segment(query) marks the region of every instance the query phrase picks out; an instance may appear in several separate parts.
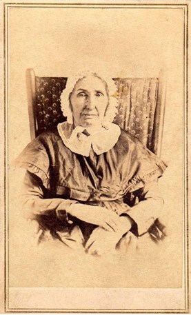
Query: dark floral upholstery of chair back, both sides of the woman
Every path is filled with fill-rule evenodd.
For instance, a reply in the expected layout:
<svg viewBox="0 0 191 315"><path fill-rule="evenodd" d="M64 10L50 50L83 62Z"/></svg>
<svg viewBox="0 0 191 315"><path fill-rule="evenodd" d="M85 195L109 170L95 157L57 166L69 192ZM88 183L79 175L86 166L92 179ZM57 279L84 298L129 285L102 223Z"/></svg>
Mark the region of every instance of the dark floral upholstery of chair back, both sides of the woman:
<svg viewBox="0 0 191 315"><path fill-rule="evenodd" d="M36 77L37 134L66 121L61 112L60 95L67 78ZM119 88L118 114L114 119L122 129L136 136L152 150L154 112L157 103L157 78L114 79Z"/></svg>

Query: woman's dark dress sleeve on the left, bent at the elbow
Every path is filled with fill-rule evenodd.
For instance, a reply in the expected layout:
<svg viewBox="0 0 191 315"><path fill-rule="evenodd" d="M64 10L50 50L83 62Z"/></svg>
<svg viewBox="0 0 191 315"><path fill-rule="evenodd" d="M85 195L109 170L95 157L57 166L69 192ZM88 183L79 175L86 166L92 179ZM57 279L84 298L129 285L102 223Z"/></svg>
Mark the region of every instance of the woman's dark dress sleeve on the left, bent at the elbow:
<svg viewBox="0 0 191 315"><path fill-rule="evenodd" d="M77 201L70 199L44 199L43 186L35 174L26 172L22 187L22 204L26 219L37 219L38 216L54 214L57 219L68 222L67 209Z"/></svg>

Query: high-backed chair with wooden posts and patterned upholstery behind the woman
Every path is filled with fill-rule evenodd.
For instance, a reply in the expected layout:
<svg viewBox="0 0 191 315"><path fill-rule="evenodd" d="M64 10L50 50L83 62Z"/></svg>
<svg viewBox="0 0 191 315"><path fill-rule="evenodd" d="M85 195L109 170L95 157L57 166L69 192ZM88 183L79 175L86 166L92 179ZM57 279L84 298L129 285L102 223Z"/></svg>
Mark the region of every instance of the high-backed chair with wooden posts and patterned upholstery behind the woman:
<svg viewBox="0 0 191 315"><path fill-rule="evenodd" d="M31 139L66 120L60 102L66 81L66 77L37 77L33 69L26 70ZM115 78L114 81L119 89L114 123L160 156L165 113L163 71L158 78Z"/></svg>

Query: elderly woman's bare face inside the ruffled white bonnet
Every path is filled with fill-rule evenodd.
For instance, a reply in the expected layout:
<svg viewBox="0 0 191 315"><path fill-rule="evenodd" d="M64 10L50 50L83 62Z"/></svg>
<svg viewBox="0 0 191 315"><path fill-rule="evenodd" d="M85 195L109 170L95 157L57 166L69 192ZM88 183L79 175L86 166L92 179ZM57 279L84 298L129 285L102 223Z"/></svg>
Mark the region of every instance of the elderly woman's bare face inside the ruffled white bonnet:
<svg viewBox="0 0 191 315"><path fill-rule="evenodd" d="M108 102L108 93L101 79L92 75L77 81L70 94L74 125L101 126Z"/></svg>

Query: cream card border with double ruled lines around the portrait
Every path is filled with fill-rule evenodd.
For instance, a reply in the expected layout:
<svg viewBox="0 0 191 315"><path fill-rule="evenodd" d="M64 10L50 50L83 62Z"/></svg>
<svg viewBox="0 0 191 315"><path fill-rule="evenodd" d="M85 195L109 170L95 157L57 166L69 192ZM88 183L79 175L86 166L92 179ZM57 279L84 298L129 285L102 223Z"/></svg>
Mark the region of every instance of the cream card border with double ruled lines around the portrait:
<svg viewBox="0 0 191 315"><path fill-rule="evenodd" d="M87 7L94 8L109 8L116 6L119 8L145 8L151 6L156 10L159 8L181 8L184 14L184 279L181 289L102 289L102 288L55 288L55 287L23 287L9 288L8 287L8 98L9 98L9 43L8 43L8 14L10 8L28 8L43 7L50 8L51 6L60 6L68 8L75 6L78 8ZM1 2L1 27L3 29L3 49L1 56L4 59L1 72L3 85L1 85L1 312L8 313L41 313L41 312L97 312L97 313L188 313L189 312L189 212L188 212L188 11L190 13L190 3L188 1L168 1L159 3L159 1L54 1L54 3L46 1L42 3L35 1L25 1L24 3L14 3L14 1ZM1 42L1 43L2 43ZM2 74L4 73L4 74ZM4 259L3 259L4 257ZM64 301L60 298L64 296ZM71 306L71 296L76 296L73 305ZM128 298L127 298L128 297Z"/></svg>

